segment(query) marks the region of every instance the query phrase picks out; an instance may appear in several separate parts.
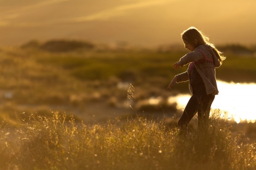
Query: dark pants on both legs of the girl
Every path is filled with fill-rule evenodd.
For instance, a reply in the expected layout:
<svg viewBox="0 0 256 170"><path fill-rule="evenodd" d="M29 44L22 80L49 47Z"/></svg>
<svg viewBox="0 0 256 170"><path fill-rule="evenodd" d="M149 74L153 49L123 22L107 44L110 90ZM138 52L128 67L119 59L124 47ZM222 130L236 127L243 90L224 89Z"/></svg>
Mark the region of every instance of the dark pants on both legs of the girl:
<svg viewBox="0 0 256 170"><path fill-rule="evenodd" d="M214 98L215 96L206 95L205 91L193 92L178 121L179 128L187 131L188 123L197 113L198 128L200 129L201 125L207 123L207 120L209 120L210 109Z"/></svg>

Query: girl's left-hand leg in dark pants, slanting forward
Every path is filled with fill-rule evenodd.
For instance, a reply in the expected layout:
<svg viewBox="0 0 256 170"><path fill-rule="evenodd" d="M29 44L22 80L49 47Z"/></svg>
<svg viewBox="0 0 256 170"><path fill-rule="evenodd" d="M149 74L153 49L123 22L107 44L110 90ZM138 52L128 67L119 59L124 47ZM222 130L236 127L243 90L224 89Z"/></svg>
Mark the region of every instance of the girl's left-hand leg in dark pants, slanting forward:
<svg viewBox="0 0 256 170"><path fill-rule="evenodd" d="M187 133L187 126L190 120L195 116L198 109L198 97L192 95L185 107L183 114L181 115L178 126L183 133Z"/></svg>

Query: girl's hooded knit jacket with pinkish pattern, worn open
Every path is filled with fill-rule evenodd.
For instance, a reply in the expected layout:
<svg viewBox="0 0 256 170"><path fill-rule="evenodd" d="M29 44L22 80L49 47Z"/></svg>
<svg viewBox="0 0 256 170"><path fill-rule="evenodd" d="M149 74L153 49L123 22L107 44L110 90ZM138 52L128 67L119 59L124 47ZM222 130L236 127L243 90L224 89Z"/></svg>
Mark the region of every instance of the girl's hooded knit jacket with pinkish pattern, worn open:
<svg viewBox="0 0 256 170"><path fill-rule="evenodd" d="M218 95L217 82L215 77L215 68L221 64L213 52L213 49L208 45L201 45L195 48L194 52L190 52L180 58L178 62L180 66L189 64L186 72L176 75L177 83L189 80L192 65L195 66L197 72L201 76L207 95ZM189 90L193 94L193 89L189 83Z"/></svg>

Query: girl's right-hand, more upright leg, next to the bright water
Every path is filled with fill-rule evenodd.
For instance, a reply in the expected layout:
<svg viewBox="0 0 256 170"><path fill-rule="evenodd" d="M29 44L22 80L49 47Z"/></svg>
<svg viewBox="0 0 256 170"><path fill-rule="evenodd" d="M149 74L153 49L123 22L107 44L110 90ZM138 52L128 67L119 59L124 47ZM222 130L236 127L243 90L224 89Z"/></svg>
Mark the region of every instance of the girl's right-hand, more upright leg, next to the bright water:
<svg viewBox="0 0 256 170"><path fill-rule="evenodd" d="M210 116L210 109L215 96L212 95L202 95L200 99L200 104L198 108L198 128L202 129L203 125L207 125Z"/></svg>

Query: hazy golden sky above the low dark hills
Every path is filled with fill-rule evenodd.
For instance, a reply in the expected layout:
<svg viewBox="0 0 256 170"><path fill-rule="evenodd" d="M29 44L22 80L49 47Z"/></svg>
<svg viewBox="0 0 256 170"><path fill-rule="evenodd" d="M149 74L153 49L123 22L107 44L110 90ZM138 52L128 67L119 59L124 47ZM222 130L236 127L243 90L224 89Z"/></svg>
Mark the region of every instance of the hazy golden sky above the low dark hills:
<svg viewBox="0 0 256 170"><path fill-rule="evenodd" d="M256 44L255 0L0 0L0 45L76 39L181 44L194 26L214 44Z"/></svg>

